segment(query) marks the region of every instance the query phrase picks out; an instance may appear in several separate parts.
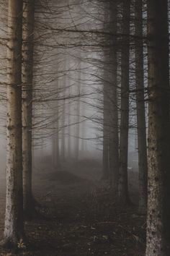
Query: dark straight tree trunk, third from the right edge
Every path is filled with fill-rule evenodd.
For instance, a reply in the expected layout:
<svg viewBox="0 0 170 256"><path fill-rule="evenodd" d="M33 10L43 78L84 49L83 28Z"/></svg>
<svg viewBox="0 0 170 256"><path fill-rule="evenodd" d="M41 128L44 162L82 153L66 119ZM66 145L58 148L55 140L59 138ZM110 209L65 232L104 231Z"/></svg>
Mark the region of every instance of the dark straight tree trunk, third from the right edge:
<svg viewBox="0 0 170 256"><path fill-rule="evenodd" d="M129 54L130 0L123 1L121 56L120 182L121 202L128 202L128 126L129 126Z"/></svg>

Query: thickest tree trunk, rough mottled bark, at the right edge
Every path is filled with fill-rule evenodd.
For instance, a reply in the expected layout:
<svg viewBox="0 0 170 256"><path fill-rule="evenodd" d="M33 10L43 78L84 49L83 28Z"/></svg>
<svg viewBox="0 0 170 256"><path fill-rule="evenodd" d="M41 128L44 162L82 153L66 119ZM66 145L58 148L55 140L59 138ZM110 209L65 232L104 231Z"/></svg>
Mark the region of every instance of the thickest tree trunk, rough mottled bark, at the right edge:
<svg viewBox="0 0 170 256"><path fill-rule="evenodd" d="M148 217L146 256L170 255L168 1L148 0Z"/></svg>

